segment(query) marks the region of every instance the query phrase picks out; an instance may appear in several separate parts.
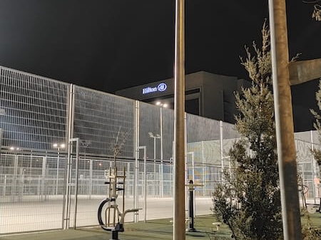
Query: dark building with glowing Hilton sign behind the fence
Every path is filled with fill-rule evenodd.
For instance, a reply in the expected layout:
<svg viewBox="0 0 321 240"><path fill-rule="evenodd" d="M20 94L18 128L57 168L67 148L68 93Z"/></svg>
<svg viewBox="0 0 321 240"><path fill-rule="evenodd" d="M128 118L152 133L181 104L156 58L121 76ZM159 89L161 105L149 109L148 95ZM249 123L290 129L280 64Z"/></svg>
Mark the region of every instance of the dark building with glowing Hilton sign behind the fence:
<svg viewBox="0 0 321 240"><path fill-rule="evenodd" d="M233 76L200 71L185 76L185 111L205 118L234 122L235 91L250 82ZM116 91L116 95L156 104L161 101L169 108L174 105L173 78Z"/></svg>

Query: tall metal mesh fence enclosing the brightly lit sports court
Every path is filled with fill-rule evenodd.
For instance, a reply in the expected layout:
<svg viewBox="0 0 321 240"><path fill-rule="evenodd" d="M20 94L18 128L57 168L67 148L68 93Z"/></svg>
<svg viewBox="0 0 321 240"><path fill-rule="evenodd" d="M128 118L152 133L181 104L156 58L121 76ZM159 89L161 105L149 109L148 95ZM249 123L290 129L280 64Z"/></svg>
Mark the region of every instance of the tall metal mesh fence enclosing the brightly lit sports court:
<svg viewBox="0 0 321 240"><path fill-rule="evenodd" d="M0 234L97 225L115 150L116 167L126 169L126 209L141 208L139 220L173 216L173 110L0 70ZM186 182L203 185L195 189L195 213L210 214L211 194L240 136L225 122L190 114L185 121ZM295 137L306 197L317 201L319 169L310 152L320 147L317 133Z"/></svg>

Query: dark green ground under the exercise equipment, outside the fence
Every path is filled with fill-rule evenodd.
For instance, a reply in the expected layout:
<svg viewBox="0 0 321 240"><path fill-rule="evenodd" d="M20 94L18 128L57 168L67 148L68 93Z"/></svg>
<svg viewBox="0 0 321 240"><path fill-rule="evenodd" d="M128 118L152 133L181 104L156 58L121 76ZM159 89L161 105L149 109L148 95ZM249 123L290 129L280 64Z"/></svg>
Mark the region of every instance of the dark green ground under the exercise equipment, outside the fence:
<svg viewBox="0 0 321 240"><path fill-rule="evenodd" d="M321 226L321 214L310 215L312 222L318 228ZM233 240L230 238L228 227L222 224L217 230L213 226L216 220L213 216L198 216L195 219L195 228L198 233L187 233L188 240ZM11 236L0 236L1 240L106 240L111 234L100 228L86 228L68 231L48 231L34 234L18 234ZM220 237L220 238L218 238ZM173 239L173 224L170 219L150 220L147 223L126 224L125 232L119 234L119 239Z"/></svg>

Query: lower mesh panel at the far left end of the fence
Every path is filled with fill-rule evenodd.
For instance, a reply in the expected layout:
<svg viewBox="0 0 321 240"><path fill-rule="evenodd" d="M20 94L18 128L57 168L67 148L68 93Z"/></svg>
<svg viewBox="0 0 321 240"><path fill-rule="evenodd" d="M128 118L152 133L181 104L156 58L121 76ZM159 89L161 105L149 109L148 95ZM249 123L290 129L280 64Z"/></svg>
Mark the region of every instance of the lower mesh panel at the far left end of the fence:
<svg viewBox="0 0 321 240"><path fill-rule="evenodd" d="M57 160L2 154L0 166L0 233L61 228L65 170L57 174Z"/></svg>

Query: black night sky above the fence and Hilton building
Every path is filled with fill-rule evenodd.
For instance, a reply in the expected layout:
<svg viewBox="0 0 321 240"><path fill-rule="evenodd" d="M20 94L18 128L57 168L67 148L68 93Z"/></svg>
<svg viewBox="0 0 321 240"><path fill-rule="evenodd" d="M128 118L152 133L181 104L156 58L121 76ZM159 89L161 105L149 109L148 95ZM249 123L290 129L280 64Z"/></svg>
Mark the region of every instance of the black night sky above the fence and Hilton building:
<svg viewBox="0 0 321 240"><path fill-rule="evenodd" d="M187 0L186 73L248 78L239 56L267 2ZM290 56L321 58L313 4L287 5ZM0 0L0 65L109 93L170 78L174 12L174 0Z"/></svg>

